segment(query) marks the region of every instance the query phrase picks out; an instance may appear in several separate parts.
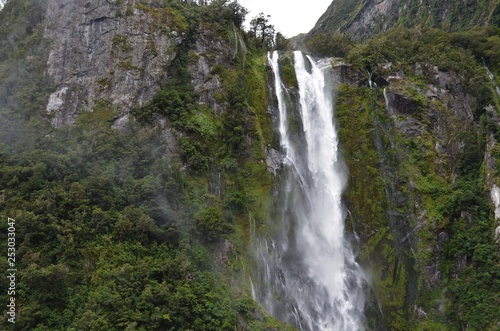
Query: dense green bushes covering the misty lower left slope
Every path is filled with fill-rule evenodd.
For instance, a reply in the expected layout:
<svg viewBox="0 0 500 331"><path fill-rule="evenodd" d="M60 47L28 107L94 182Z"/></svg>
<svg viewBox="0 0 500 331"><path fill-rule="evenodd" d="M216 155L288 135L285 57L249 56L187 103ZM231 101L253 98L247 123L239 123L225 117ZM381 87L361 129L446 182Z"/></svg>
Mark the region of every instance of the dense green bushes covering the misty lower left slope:
<svg viewBox="0 0 500 331"><path fill-rule="evenodd" d="M159 157L157 132L118 133L111 114L101 106L2 158L2 217L19 221L19 328L233 330L246 311L196 266L206 259L190 257L196 239L179 241L192 208L185 175ZM229 229L217 205L192 225L210 242Z"/></svg>

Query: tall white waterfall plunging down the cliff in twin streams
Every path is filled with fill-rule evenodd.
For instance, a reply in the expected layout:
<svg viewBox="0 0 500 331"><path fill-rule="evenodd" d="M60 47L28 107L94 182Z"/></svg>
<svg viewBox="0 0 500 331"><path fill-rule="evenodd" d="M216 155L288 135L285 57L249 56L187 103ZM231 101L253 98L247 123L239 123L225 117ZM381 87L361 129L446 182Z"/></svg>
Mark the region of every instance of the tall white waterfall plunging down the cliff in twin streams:
<svg viewBox="0 0 500 331"><path fill-rule="evenodd" d="M268 58L285 162L277 213L281 230L258 248L263 284L256 299L301 330L363 330L365 278L344 233L346 180L338 158L329 64L295 52L294 94L282 82L279 54Z"/></svg>

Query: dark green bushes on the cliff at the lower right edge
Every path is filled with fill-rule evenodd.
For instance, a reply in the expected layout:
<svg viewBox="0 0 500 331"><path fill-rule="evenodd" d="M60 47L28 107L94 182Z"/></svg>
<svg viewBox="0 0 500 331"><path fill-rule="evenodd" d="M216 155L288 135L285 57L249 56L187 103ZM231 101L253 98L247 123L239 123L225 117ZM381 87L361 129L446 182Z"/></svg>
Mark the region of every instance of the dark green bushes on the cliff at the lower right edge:
<svg viewBox="0 0 500 331"><path fill-rule="evenodd" d="M494 223L482 184L484 129L468 132L457 165L461 176L441 205L442 215L451 223L442 270L453 300L447 317L471 329L493 330L500 314L500 283L495 281L500 276L500 260L494 239L485 235L494 233ZM457 267L457 263L464 265Z"/></svg>

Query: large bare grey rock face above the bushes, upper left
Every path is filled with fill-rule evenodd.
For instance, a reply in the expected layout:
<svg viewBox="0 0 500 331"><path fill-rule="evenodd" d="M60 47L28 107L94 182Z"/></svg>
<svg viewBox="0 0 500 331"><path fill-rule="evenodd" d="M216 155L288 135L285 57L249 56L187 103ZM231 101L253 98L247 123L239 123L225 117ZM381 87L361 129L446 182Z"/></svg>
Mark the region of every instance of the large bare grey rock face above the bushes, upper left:
<svg viewBox="0 0 500 331"><path fill-rule="evenodd" d="M158 89L175 56L182 33L165 28L139 1L50 0L45 36L52 42L48 71L57 90L47 113L52 124L73 123L97 102L116 108L118 127L131 109L143 105Z"/></svg>

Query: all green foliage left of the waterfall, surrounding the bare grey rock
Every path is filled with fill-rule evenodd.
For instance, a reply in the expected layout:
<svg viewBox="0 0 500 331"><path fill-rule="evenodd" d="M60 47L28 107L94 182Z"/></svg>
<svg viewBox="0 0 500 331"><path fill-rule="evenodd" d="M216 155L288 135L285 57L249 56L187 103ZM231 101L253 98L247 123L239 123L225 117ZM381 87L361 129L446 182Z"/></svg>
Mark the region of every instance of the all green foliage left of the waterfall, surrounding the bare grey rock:
<svg viewBox="0 0 500 331"><path fill-rule="evenodd" d="M38 4L10 1L1 21L5 10L19 18ZM166 68L164 85L133 111L137 122L124 132L112 128L116 109L106 101L82 111L73 126L51 128L44 105L54 87L43 24L15 43L9 40L18 26L23 31L23 20L1 32L0 217L18 222L16 329L284 329L240 287L248 278L235 281L231 273L242 263L247 212L263 221L269 208L272 180L262 162L264 137L272 137L266 68L256 54L248 55L248 65L239 58L214 65L211 74L224 84L221 113L199 103L189 72L200 25L225 38L246 11L227 1L144 1L136 8L157 18L152 24L160 32L175 28L189 37ZM133 15L131 5L126 13ZM114 42L128 51L125 37ZM160 117L178 138L174 150ZM5 224L0 248L6 251ZM223 240L234 248L223 252ZM7 300L1 293L0 301ZM0 321L1 329L9 327Z"/></svg>

